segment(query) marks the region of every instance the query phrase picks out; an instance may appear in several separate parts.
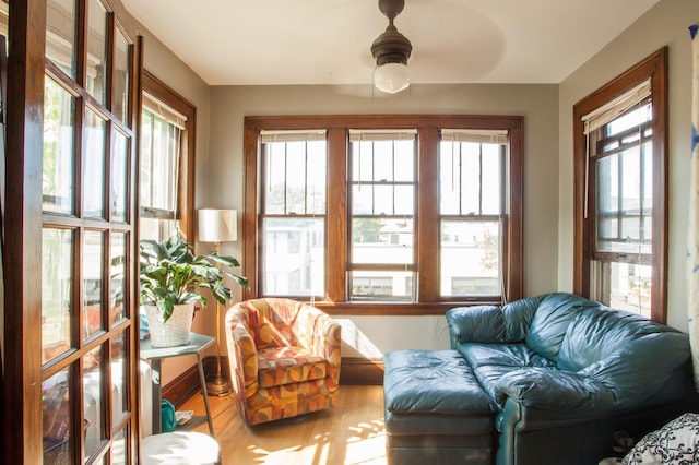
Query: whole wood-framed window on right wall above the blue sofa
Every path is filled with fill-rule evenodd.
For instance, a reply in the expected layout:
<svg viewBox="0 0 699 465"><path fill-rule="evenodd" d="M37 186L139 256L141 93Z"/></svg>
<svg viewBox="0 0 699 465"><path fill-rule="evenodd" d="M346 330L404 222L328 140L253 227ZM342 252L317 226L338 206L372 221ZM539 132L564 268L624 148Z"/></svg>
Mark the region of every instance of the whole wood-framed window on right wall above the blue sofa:
<svg viewBox="0 0 699 465"><path fill-rule="evenodd" d="M665 321L666 56L574 107L576 290Z"/></svg>

